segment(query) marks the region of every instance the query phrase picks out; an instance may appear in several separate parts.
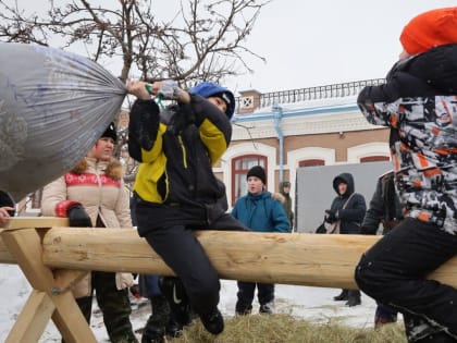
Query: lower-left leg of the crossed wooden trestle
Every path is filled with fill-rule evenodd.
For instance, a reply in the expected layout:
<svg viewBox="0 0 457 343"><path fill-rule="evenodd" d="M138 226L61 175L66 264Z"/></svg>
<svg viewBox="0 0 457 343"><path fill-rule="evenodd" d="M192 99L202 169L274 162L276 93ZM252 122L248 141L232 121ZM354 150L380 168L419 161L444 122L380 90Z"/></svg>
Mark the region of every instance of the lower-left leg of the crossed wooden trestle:
<svg viewBox="0 0 457 343"><path fill-rule="evenodd" d="M38 342L54 308L48 294L34 290L4 342Z"/></svg>

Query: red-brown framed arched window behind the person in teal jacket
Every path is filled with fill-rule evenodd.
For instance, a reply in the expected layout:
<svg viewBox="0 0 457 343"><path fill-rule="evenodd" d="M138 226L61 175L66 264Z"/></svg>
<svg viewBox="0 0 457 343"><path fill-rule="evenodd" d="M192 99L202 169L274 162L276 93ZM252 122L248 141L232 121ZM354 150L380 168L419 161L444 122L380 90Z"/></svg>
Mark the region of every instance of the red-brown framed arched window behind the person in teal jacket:
<svg viewBox="0 0 457 343"><path fill-rule="evenodd" d="M245 155L232 160L232 206L237 198L247 193L246 175L254 166L261 166L267 171L267 157L260 155ZM267 180L268 182L268 180Z"/></svg>

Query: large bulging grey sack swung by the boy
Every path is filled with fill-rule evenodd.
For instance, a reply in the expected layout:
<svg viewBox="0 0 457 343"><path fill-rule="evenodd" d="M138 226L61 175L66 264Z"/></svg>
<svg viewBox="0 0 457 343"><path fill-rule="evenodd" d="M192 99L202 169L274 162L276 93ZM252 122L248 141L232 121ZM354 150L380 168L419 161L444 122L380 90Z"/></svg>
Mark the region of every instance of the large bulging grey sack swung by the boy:
<svg viewBox="0 0 457 343"><path fill-rule="evenodd" d="M0 42L0 189L17 201L72 169L125 95L121 81L86 58Z"/></svg>

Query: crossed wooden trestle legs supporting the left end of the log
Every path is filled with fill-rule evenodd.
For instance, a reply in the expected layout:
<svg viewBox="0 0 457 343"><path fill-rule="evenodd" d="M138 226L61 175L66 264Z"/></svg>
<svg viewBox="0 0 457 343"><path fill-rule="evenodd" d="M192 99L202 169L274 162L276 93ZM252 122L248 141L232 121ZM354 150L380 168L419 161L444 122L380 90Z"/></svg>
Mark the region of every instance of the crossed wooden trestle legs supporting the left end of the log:
<svg viewBox="0 0 457 343"><path fill-rule="evenodd" d="M41 221L41 223L45 222L46 220ZM25 226L27 225L26 221L23 223ZM37 222L34 224L38 225ZM24 228L23 225L20 228L3 230L1 237L34 290L5 343L38 342L51 318L65 342L95 343L96 338L67 287L69 284L72 284L73 279L81 278L82 272L61 273L58 284L64 292L55 291L58 287L54 283L54 273L42 264L41 259L41 234L45 234L47 229L44 228L46 230L38 232L39 230L36 228Z"/></svg>

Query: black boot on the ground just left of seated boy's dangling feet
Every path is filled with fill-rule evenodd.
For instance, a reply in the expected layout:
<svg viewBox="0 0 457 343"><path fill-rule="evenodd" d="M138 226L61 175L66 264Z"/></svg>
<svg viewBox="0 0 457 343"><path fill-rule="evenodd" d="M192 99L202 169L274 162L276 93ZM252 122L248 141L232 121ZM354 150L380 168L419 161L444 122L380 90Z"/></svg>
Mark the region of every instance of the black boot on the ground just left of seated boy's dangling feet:
<svg viewBox="0 0 457 343"><path fill-rule="evenodd" d="M170 319L170 306L163 295L150 298L152 315L146 322L141 336L141 343L162 343L165 342L165 326Z"/></svg>

